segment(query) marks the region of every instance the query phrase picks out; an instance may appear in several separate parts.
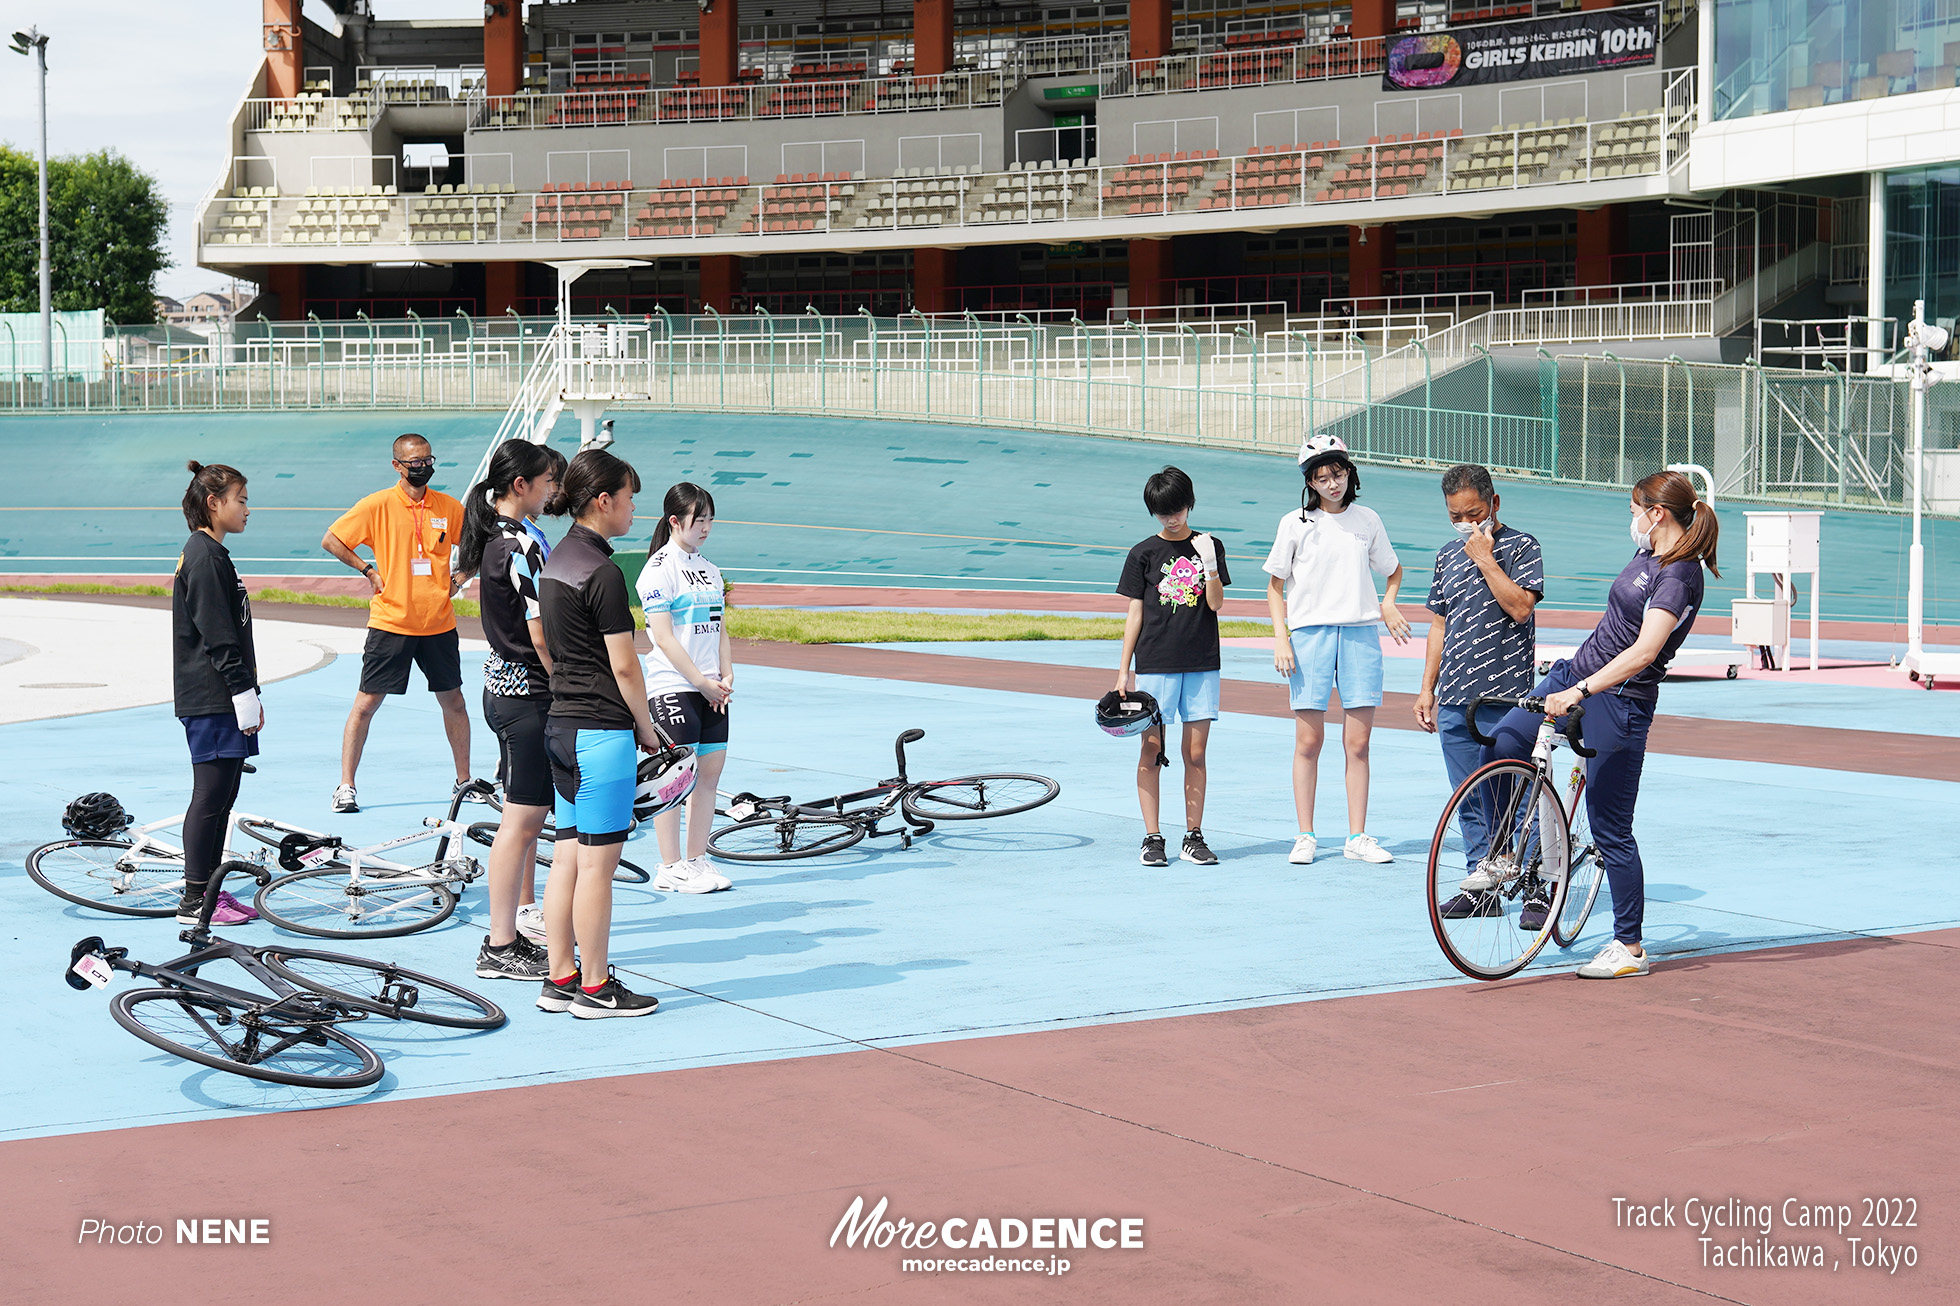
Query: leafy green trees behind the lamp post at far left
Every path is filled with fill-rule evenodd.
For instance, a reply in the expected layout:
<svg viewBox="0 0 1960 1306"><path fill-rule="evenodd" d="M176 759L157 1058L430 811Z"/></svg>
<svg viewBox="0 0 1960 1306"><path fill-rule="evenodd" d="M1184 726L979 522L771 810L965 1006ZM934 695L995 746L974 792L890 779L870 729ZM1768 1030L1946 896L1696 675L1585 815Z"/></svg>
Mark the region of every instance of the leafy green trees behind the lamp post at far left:
<svg viewBox="0 0 1960 1306"><path fill-rule="evenodd" d="M0 312L41 308L41 227L33 155L0 145ZM171 206L157 180L112 149L47 161L55 308L104 310L112 322L157 320L157 273L171 265Z"/></svg>

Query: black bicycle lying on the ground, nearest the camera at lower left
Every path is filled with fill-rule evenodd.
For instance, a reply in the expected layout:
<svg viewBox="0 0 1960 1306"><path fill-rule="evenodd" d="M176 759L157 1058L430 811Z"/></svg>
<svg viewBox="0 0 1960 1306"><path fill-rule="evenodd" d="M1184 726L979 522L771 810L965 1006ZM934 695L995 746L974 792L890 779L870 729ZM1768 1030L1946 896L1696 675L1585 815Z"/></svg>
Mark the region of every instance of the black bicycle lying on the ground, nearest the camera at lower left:
<svg viewBox="0 0 1960 1306"><path fill-rule="evenodd" d="M376 1016L451 1030L504 1026L496 1002L433 975L367 957L212 937L212 908L227 871L270 879L263 867L221 863L198 924L178 935L188 953L151 965L131 961L129 949L110 947L100 935L88 937L69 953L69 984L108 986L114 971L147 979L151 988L125 988L110 1000L123 1030L174 1057L300 1088L367 1088L386 1073L374 1049L341 1026ZM237 965L265 992L198 975L218 961Z"/></svg>

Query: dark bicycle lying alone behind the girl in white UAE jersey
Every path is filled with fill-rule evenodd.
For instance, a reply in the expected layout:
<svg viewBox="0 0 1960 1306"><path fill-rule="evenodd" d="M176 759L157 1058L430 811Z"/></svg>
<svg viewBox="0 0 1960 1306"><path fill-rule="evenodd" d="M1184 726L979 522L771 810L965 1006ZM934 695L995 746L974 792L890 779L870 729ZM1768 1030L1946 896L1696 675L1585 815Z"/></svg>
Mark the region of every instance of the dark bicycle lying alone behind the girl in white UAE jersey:
<svg viewBox="0 0 1960 1306"><path fill-rule="evenodd" d="M962 775L951 780L906 779L906 745L925 737L907 729L898 737L898 777L855 794L815 802L735 794L727 802L733 826L708 835L708 851L729 861L792 861L837 853L866 835L898 835L902 847L933 829L935 822L978 822L1031 812L1062 792L1043 775ZM882 828L898 816L900 824Z"/></svg>

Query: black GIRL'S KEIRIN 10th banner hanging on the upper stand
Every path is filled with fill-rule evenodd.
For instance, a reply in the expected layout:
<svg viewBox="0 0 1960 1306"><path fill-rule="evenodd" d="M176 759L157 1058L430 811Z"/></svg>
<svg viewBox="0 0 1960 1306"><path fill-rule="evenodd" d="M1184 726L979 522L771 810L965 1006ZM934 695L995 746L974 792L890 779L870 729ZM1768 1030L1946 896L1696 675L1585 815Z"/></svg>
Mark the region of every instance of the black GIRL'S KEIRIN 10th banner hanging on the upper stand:
<svg viewBox="0 0 1960 1306"><path fill-rule="evenodd" d="M1488 86L1654 63L1660 6L1590 10L1515 24L1423 31L1390 43L1384 90Z"/></svg>

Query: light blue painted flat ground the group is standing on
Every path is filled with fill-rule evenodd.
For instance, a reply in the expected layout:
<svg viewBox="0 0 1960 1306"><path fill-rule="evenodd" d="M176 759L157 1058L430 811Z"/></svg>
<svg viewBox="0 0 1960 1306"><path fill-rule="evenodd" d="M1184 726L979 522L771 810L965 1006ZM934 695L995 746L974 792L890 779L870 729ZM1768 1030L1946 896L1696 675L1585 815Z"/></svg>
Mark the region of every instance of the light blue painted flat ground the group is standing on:
<svg viewBox="0 0 1960 1306"><path fill-rule="evenodd" d="M986 645L949 651L974 655ZM1002 655L1098 661L1103 647L1002 645ZM476 659L470 659L474 663ZM1229 675L1250 671L1229 669ZM1415 663L1407 663L1413 667ZM1394 663L1392 663L1394 667ZM406 833L447 792L435 704L421 692L376 718L361 773L368 810L325 812L339 726L355 684L341 659L267 690L261 775L241 810L357 839ZM466 684L476 684L474 665ZM1664 710L1682 712L1670 686ZM1699 686L1693 686L1699 688ZM1707 698L1735 702L1737 688ZM474 688L470 690L474 694ZM1925 729L1923 698L1860 700L1860 726ZM1936 696L1935 696L1936 698ZM664 1067L737 1063L1070 1024L1454 982L1423 914L1421 861L1446 796L1435 741L1380 731L1370 828L1399 857L1366 867L1323 855L1284 859L1292 726L1227 716L1211 735L1205 831L1223 865L1198 871L1135 861L1139 820L1131 747L1096 733L1086 704L749 667L725 788L800 798L857 788L890 771L890 741L909 726L915 775L1027 769L1062 796L1037 812L941 826L911 851L892 841L778 867L725 867L737 888L711 896L617 890L613 961L662 998L651 1020L574 1022L529 1006L531 984L474 980L482 890L425 935L318 943L396 959L476 986L512 1012L488 1035L363 1030L388 1079L361 1100L433 1096L506 1084ZM492 737L478 726L478 769ZM161 961L180 951L169 922L71 908L22 873L25 851L59 835L61 806L110 788L153 820L180 810L188 767L167 706L0 726L16 759L0 788L0 910L14 922L16 992L0 1041L0 1137L347 1100L261 1086L186 1067L123 1033L100 992L59 982L88 933ZM1343 826L1337 741L1323 769L1323 829ZM1774 763L1650 757L1639 833L1648 865L1648 945L1684 951L1903 931L1960 920L1950 892L1954 784ZM651 845L631 845L641 857ZM1605 937L1595 912L1586 953ZM251 926L241 937L269 939ZM1550 953L1544 967L1572 965ZM125 984L127 980L118 980ZM633 980L629 980L633 982Z"/></svg>

